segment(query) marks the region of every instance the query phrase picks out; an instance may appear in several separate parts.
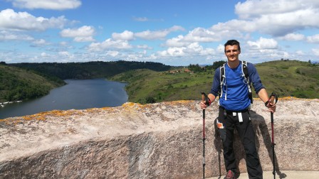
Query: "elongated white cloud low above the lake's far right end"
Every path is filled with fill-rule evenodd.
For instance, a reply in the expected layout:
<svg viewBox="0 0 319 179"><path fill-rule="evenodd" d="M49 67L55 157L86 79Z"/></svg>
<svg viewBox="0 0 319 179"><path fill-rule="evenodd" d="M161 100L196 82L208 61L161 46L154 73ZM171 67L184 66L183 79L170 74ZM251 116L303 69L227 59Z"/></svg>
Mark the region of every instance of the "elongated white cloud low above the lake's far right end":
<svg viewBox="0 0 319 179"><path fill-rule="evenodd" d="M130 45L127 40L112 40L108 38L107 40L103 41L102 43L91 43L88 46L89 51L100 52L103 50L110 50L110 49L130 49L132 45Z"/></svg>

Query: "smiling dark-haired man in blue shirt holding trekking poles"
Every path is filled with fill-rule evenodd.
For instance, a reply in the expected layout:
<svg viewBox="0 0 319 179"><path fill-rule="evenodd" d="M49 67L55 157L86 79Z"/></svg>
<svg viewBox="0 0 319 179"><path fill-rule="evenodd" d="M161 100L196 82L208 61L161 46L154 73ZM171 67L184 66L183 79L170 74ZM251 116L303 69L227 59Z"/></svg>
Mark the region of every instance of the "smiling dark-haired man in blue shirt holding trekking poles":
<svg viewBox="0 0 319 179"><path fill-rule="evenodd" d="M241 142L246 151L246 167L249 178L263 178L263 171L256 150L255 133L249 116L251 99L249 99L249 89L245 83L245 77L241 70L242 62L239 60L241 53L240 44L237 40L228 40L224 45L224 52L227 58L225 68L225 80L220 83L220 70L217 69L214 75L214 82L211 92L207 95L209 103L214 102L219 97L219 118L217 127L224 148L224 161L227 170L226 178L235 178L236 161L233 151L234 128L236 127ZM247 63L249 71L249 82L253 82L258 97L265 102L269 112L276 111L276 105L271 104L268 99L266 89L263 87L256 67ZM209 104L210 105L210 104ZM207 107L206 102L201 102L202 109Z"/></svg>

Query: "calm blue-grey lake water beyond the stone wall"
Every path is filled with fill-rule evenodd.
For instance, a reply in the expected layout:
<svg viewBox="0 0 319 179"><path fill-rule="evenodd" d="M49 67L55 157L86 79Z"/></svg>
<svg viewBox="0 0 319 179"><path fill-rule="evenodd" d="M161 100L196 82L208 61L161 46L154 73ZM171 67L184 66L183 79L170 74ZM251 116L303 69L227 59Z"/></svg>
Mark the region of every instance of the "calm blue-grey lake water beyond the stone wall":
<svg viewBox="0 0 319 179"><path fill-rule="evenodd" d="M33 100L0 107L0 119L25 116L54 109L118 107L127 102L126 83L104 79L65 80L68 85L52 89L50 94Z"/></svg>

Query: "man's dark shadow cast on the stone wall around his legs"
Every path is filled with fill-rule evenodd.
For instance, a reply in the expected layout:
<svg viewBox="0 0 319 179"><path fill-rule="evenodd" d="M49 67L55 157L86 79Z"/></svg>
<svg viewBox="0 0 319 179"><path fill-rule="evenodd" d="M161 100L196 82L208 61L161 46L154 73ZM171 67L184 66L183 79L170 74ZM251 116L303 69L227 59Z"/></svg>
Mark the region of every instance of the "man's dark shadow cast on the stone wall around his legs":
<svg viewBox="0 0 319 179"><path fill-rule="evenodd" d="M269 158L271 158L271 162L273 163L273 147L271 144L271 135L268 132L268 126L266 124L265 119L263 118L263 116L257 114L256 112L250 111L250 116L251 116L251 120L252 120L252 124L253 124L253 129L255 131L255 139L256 139L256 148L257 151L259 151L260 148L260 143L259 143L259 136L263 137L263 143L265 143L265 146L267 148L268 151L268 156ZM218 161L219 161L219 178L221 178L221 175L224 175L221 173L221 155L223 155L223 143L221 142L221 138L219 136L219 131L218 128L216 126L216 120L218 119L218 117L214 120L214 129L215 129L215 136L214 136L214 146L216 148L216 151L218 152ZM241 139L239 138L239 134L236 131L236 129L234 130L234 146L239 147L239 152L235 152L235 158L236 158L236 170L237 170L237 175L236 178L239 177L240 175L240 170L239 170L239 161L241 161L241 159L244 158L244 160L246 160L246 156L245 156L245 151L244 151L244 146L241 143ZM276 146L275 146L275 156L274 156L274 161L275 161L275 170L277 175L279 176L279 178L286 178L286 174L285 173L281 173L279 165L278 165L278 160L276 157ZM261 161L262 162L262 161Z"/></svg>

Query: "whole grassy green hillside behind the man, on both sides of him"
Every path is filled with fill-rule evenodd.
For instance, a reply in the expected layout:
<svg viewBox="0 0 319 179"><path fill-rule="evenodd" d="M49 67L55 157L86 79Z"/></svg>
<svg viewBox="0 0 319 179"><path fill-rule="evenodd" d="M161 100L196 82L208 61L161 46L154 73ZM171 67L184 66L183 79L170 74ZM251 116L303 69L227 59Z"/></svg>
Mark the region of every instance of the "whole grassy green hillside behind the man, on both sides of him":
<svg viewBox="0 0 319 179"><path fill-rule="evenodd" d="M257 64L256 68L268 93L280 97L319 98L319 66L296 60L278 60ZM150 103L182 99L199 99L209 92L214 70L206 72L155 72L132 70L111 80L126 81L130 102ZM175 70L175 71L177 71ZM257 97L256 94L254 97Z"/></svg>

